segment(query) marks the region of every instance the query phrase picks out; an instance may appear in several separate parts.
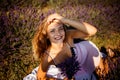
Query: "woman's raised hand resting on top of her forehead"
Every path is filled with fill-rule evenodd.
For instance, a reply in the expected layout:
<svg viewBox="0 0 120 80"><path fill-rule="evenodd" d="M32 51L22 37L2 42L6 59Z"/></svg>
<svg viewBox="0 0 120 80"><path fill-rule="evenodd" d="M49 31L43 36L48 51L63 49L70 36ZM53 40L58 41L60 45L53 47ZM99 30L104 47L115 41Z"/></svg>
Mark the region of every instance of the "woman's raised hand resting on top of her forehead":
<svg viewBox="0 0 120 80"><path fill-rule="evenodd" d="M52 23L54 20L55 21L60 21L61 22L61 19L63 18L63 16L59 15L58 13L54 13L54 14L51 14L48 16L47 18L47 23L50 24Z"/></svg>

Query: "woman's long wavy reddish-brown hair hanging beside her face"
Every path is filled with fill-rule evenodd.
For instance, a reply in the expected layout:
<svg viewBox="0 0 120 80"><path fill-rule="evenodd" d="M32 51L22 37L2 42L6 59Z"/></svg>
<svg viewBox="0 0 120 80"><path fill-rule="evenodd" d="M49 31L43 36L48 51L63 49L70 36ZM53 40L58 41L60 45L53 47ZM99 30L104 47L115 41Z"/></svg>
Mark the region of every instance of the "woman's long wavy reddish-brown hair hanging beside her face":
<svg viewBox="0 0 120 80"><path fill-rule="evenodd" d="M42 23L38 26L38 29L32 39L32 49L33 49L33 57L35 60L39 60L43 57L45 51L51 45L50 40L47 38L47 27L49 24L47 23L47 18L45 18ZM64 27L65 25L63 25ZM65 35L66 35L66 29ZM65 41L65 40L64 40Z"/></svg>

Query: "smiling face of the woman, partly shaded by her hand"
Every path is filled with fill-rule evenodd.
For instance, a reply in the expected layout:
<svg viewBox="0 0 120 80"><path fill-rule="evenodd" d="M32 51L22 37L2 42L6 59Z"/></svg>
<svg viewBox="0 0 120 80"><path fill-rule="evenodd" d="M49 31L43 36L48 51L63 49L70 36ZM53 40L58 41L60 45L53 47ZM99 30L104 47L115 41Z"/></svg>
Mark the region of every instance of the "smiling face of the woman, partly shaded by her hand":
<svg viewBox="0 0 120 80"><path fill-rule="evenodd" d="M47 37L51 43L62 43L65 39L63 24L57 21L52 22L47 28Z"/></svg>

